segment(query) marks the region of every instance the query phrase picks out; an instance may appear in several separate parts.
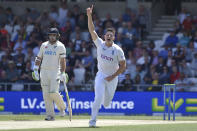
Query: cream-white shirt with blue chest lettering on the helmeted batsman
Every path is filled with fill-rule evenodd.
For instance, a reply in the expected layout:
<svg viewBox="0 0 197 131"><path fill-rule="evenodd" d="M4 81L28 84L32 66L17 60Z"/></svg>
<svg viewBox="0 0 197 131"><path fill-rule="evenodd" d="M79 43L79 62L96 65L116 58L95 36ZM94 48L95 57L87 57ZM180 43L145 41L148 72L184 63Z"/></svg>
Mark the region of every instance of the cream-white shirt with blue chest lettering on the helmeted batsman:
<svg viewBox="0 0 197 131"><path fill-rule="evenodd" d="M66 48L60 41L53 45L46 41L42 43L38 57L42 58L41 69L59 70L60 58L66 57Z"/></svg>

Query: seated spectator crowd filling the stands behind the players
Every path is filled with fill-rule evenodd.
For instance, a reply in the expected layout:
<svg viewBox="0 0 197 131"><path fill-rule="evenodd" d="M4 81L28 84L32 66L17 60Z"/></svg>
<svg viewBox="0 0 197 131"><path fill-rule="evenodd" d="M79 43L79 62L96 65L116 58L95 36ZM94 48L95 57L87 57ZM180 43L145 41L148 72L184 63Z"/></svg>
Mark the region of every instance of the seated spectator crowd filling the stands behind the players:
<svg viewBox="0 0 197 131"><path fill-rule="evenodd" d="M31 72L49 27L57 27L60 41L66 47L69 85L92 84L97 72L96 47L87 27L87 16L79 5L68 8L52 5L49 11L26 8L21 16L11 8L0 6L0 82L32 83ZM144 44L149 19L144 6L138 11L126 8L117 19L108 13L99 18L94 12L96 32L103 38L105 29L116 29L115 43L124 50L127 69L119 76L121 91L137 90L135 84L161 85L176 83L179 91L193 85L197 76L197 17L183 9L174 29L165 34L164 43L156 49L154 41ZM181 88L181 86L183 86ZM142 86L143 91L161 91L161 86Z"/></svg>

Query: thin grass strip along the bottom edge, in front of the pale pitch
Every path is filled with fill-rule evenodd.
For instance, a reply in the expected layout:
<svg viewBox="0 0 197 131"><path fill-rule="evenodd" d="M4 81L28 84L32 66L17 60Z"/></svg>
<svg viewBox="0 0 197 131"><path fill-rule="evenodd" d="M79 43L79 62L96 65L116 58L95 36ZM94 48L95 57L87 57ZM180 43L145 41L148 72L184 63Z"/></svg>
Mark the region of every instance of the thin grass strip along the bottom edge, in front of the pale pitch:
<svg viewBox="0 0 197 131"><path fill-rule="evenodd" d="M6 131L196 131L196 124L106 126L98 128L71 127L45 129L18 129Z"/></svg>

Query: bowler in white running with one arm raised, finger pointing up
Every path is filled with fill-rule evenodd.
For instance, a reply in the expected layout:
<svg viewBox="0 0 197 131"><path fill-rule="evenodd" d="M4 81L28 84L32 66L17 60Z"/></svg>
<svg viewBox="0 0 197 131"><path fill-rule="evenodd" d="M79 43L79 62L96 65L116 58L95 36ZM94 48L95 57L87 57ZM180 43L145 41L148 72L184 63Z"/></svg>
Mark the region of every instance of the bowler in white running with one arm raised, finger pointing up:
<svg viewBox="0 0 197 131"><path fill-rule="evenodd" d="M92 10L93 5L87 8L88 29L97 47L98 72L95 78L95 98L89 127L96 127L99 108L101 104L104 107L110 105L118 84L118 75L125 70L126 62L123 50L113 42L115 39L113 28L106 29L105 41L98 37L92 21Z"/></svg>

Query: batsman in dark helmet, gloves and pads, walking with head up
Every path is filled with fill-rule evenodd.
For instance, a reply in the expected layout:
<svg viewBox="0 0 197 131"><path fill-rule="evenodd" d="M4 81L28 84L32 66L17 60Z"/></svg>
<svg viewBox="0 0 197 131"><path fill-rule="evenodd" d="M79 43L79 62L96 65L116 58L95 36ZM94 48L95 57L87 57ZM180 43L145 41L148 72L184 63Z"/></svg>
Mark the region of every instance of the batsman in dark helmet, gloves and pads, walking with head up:
<svg viewBox="0 0 197 131"><path fill-rule="evenodd" d="M66 105L62 96L59 94L60 81L67 81L68 76L66 69L66 49L64 45L58 41L60 34L57 28L50 28L48 32L48 41L42 43L40 51L35 59L32 77L34 80L41 80L43 98L45 102L46 115L45 120L55 120L55 112L53 102L56 103L60 116L65 115ZM42 64L41 64L42 63ZM39 67L40 77L39 77Z"/></svg>

